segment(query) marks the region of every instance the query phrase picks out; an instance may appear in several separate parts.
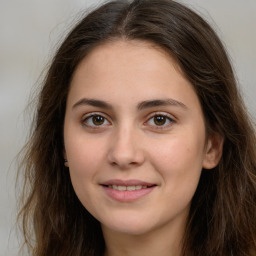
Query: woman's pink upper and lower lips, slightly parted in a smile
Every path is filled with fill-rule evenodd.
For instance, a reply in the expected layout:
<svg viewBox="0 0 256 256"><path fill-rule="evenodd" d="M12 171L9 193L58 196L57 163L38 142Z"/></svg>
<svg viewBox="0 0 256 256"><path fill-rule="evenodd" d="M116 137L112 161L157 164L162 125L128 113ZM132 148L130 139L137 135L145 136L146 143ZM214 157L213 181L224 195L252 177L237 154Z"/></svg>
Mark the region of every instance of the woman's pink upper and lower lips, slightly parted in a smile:
<svg viewBox="0 0 256 256"><path fill-rule="evenodd" d="M132 202L135 201L141 197L146 196L147 194L149 194L150 192L152 192L152 190L154 190L154 188L156 187L155 184L152 183L148 183L148 182L144 182L144 181L140 181L140 180L109 180L107 182L104 182L101 184L102 188L104 189L104 191L106 192L106 194L119 202ZM119 191L116 189L113 189L111 187L109 187L110 185L117 185L117 186L136 186L136 185L140 185L140 186L147 186L147 188L141 188L138 190L132 190L132 191Z"/></svg>

